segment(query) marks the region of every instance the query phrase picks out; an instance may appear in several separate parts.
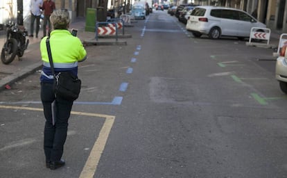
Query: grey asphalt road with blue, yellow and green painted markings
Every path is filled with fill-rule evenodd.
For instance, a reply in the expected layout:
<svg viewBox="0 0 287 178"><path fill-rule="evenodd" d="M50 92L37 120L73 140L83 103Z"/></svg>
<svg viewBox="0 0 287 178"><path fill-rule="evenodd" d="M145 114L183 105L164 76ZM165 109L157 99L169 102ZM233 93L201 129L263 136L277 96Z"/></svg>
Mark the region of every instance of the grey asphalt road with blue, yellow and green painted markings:
<svg viewBox="0 0 287 178"><path fill-rule="evenodd" d="M63 168L44 166L40 72L0 93L0 177L287 177L272 49L193 38L166 10L133 25L87 47Z"/></svg>

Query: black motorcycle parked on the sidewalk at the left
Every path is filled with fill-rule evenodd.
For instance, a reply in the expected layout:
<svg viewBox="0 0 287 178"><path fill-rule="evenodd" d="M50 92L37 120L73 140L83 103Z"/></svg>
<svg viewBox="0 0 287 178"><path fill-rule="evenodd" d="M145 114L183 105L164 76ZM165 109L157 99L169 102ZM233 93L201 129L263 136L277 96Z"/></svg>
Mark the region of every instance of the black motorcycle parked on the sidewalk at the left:
<svg viewBox="0 0 287 178"><path fill-rule="evenodd" d="M1 51L3 64L8 65L12 63L16 55L20 60L29 44L29 40L26 40L27 35L28 31L26 31L24 26L18 26L11 21L6 24L6 39Z"/></svg>

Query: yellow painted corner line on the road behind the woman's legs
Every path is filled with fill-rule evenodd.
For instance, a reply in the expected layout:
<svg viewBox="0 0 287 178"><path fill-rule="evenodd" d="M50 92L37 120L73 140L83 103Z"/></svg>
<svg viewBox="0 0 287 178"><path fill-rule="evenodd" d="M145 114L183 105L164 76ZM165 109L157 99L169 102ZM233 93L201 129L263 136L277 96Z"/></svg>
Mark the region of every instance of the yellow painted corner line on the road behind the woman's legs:
<svg viewBox="0 0 287 178"><path fill-rule="evenodd" d="M2 106L0 108L10 108L10 109L22 109L22 110L30 110L30 111L43 111L42 108L31 108L31 107L21 107L21 106ZM105 118L105 123L98 134L98 138L94 143L94 146L87 158L84 168L82 168L82 172L80 173L79 178L93 178L96 173L96 168L98 166L98 162L101 159L101 155L103 153L103 149L105 149L105 144L107 143L107 138L109 137L110 131L112 129L112 125L114 124L114 119L116 118L114 115L105 115L105 114L97 114L97 113L83 113L71 111L73 115L87 115L98 118Z"/></svg>

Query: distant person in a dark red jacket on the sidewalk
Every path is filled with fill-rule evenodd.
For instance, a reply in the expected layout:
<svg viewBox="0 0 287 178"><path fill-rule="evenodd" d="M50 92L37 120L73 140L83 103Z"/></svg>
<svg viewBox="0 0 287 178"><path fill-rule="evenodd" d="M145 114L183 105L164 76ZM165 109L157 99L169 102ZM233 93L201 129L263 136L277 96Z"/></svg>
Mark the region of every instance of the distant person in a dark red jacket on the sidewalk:
<svg viewBox="0 0 287 178"><path fill-rule="evenodd" d="M43 37L46 36L46 26L48 24L48 35L51 33L51 22L50 22L50 16L53 13L53 10L55 10L55 3L51 0L46 0L43 2L43 5L41 7L42 10L44 10L44 21L43 21Z"/></svg>

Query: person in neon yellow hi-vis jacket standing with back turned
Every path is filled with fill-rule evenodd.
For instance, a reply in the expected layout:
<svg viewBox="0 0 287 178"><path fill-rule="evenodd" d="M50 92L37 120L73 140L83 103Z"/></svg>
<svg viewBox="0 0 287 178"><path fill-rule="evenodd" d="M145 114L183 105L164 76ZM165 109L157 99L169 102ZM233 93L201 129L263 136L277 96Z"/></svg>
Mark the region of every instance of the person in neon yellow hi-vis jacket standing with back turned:
<svg viewBox="0 0 287 178"><path fill-rule="evenodd" d="M68 120L71 114L73 101L55 95L53 91L53 72L49 63L46 40L49 38L51 56L55 75L59 72L71 72L77 76L78 62L86 59L87 52L79 38L71 35L70 19L67 9L54 10L50 17L52 31L50 37L44 37L40 42L40 51L43 60L41 82L41 100L46 119L44 126L44 154L46 168L55 170L62 167L64 143L67 138Z"/></svg>

